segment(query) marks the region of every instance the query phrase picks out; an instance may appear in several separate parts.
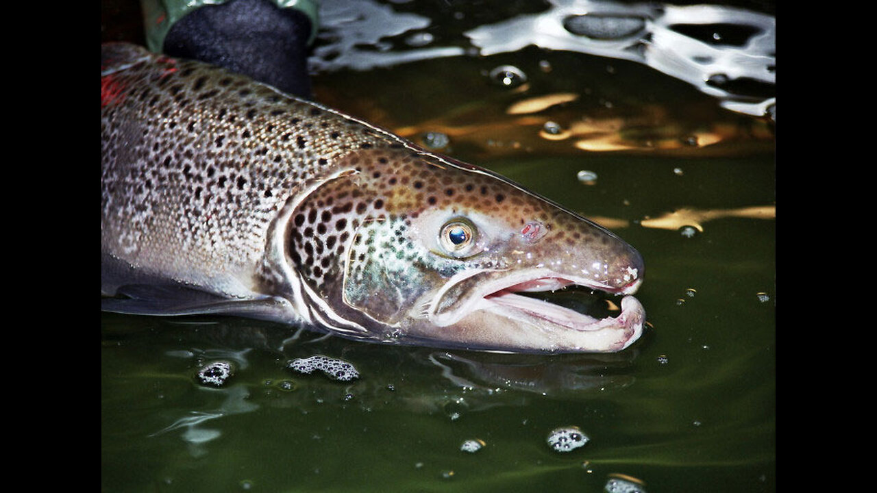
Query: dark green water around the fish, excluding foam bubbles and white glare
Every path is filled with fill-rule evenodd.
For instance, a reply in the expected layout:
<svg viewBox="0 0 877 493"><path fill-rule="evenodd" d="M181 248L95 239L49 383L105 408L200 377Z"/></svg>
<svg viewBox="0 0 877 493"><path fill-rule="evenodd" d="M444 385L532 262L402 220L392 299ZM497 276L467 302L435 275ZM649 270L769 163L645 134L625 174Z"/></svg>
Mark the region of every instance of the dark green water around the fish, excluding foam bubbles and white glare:
<svg viewBox="0 0 877 493"><path fill-rule="evenodd" d="M536 75L540 60L555 69ZM533 75L529 92L483 83L483 70L509 61ZM314 332L290 339L289 327L237 318L104 313L103 491L599 492L617 474L650 493L774 491L775 221L719 214L690 237L646 226L680 209L773 206L773 139L759 120L681 82L612 64L597 74L581 68L605 61L528 49L320 75L315 92L394 130L487 128L453 135L449 154L616 221L645 258L637 297L648 327L638 343L599 356L480 354ZM581 151L504 113L524 96L584 88L593 100L546 118L614 115L638 147ZM645 125L644 107L663 111ZM637 137L717 128L730 137L715 146L661 150ZM582 169L594 184L576 179ZM353 363L360 379L286 368L312 354ZM215 360L235 364L222 389L194 379ZM580 427L588 444L553 451L545 439L563 425ZM486 445L461 452L467 439Z"/></svg>

